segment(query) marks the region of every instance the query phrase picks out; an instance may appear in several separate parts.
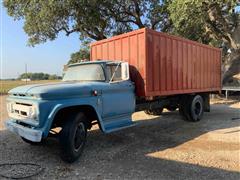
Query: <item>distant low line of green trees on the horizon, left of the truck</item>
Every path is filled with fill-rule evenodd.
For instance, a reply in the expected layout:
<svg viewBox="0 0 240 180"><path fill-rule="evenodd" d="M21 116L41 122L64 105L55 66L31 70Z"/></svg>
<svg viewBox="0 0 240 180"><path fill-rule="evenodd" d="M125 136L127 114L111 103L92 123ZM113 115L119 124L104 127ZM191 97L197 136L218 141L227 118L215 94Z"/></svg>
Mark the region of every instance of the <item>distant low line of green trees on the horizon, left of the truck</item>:
<svg viewBox="0 0 240 180"><path fill-rule="evenodd" d="M19 76L18 79L31 79L31 80L56 80L61 79L57 75L49 75L46 73L23 73Z"/></svg>

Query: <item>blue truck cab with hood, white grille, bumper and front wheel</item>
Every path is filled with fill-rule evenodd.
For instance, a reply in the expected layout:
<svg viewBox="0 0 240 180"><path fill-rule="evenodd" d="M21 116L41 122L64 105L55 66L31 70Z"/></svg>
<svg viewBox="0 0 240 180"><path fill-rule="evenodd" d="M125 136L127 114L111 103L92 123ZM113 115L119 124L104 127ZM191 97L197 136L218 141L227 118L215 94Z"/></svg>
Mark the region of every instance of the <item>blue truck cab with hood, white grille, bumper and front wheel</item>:
<svg viewBox="0 0 240 180"><path fill-rule="evenodd" d="M128 63L76 63L69 65L62 82L10 90L6 127L32 144L61 127L62 158L72 162L80 156L93 124L104 133L131 126L135 102Z"/></svg>

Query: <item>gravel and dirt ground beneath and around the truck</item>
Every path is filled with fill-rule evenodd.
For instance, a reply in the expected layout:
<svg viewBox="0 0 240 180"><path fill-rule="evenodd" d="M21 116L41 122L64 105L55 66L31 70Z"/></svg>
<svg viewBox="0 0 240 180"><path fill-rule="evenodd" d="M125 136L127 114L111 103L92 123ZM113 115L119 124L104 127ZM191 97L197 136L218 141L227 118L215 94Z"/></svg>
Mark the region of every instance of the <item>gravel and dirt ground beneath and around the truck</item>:
<svg viewBox="0 0 240 180"><path fill-rule="evenodd" d="M82 157L66 164L59 158L57 140L31 146L4 129L5 98L1 97L0 174L39 170L6 165L25 162L42 168L32 179L240 179L239 101L212 101L211 112L197 123L183 121L177 111L161 116L135 113L132 128L108 135L91 130Z"/></svg>

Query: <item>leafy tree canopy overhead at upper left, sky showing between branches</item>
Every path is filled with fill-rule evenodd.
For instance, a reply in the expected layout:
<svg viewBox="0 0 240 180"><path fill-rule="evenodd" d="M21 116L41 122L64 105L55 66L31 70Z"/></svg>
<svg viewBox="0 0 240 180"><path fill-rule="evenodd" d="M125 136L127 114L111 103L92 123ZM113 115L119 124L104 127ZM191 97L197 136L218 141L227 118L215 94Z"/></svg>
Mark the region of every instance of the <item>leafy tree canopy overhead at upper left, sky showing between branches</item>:
<svg viewBox="0 0 240 180"><path fill-rule="evenodd" d="M60 32L80 39L108 36L149 27L166 31L171 23L168 0L5 0L7 12L24 20L29 45L54 40Z"/></svg>

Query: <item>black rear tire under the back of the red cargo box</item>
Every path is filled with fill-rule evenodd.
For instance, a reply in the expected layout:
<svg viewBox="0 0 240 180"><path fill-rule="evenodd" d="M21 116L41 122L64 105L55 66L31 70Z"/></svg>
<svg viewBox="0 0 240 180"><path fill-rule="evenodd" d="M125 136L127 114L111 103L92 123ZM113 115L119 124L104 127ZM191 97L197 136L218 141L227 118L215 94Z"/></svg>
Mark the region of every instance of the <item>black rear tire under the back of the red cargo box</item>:
<svg viewBox="0 0 240 180"><path fill-rule="evenodd" d="M204 106L203 98L200 95L188 96L181 102L179 112L184 119L191 122L200 121L203 117Z"/></svg>

